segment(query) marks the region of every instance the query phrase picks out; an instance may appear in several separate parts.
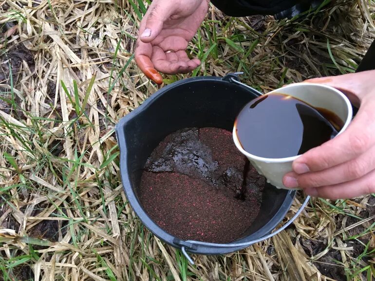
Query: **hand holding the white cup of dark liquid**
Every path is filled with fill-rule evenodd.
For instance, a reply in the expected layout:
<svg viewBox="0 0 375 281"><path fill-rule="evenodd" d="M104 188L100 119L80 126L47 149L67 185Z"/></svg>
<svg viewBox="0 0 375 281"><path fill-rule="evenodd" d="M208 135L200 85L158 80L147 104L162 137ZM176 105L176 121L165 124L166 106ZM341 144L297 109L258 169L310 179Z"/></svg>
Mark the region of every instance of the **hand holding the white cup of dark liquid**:
<svg viewBox="0 0 375 281"><path fill-rule="evenodd" d="M284 185L328 199L375 193L375 70L305 82L341 90L359 110L343 133L297 158Z"/></svg>

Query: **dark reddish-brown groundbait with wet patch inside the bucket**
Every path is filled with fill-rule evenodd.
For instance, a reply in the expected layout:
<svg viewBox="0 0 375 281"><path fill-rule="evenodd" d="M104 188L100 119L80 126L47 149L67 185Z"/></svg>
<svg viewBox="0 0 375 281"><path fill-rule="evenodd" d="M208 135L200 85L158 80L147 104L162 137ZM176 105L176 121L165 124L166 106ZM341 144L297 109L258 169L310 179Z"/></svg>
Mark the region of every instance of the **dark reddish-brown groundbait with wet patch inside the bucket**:
<svg viewBox="0 0 375 281"><path fill-rule="evenodd" d="M180 239L231 242L249 228L262 201L265 179L251 165L241 188L245 163L229 131L177 131L148 159L140 201L156 224Z"/></svg>

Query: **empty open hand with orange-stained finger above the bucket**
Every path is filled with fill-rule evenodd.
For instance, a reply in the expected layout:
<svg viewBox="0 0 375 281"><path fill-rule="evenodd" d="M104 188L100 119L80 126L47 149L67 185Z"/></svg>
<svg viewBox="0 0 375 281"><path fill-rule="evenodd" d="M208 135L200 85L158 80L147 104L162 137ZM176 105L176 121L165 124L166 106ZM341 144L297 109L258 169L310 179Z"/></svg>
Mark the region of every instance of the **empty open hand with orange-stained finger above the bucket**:
<svg viewBox="0 0 375 281"><path fill-rule="evenodd" d="M189 59L186 48L206 16L206 0L153 0L141 21L135 61L157 84L166 74L188 73L201 61Z"/></svg>

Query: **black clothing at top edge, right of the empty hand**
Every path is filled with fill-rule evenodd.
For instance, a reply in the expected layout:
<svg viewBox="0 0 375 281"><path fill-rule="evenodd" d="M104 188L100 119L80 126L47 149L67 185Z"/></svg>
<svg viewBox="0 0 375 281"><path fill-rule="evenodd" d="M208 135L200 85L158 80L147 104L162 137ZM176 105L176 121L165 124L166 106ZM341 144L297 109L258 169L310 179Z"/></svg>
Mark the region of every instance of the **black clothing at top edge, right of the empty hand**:
<svg viewBox="0 0 375 281"><path fill-rule="evenodd" d="M274 15L291 8L297 0L211 0L219 10L231 17Z"/></svg>

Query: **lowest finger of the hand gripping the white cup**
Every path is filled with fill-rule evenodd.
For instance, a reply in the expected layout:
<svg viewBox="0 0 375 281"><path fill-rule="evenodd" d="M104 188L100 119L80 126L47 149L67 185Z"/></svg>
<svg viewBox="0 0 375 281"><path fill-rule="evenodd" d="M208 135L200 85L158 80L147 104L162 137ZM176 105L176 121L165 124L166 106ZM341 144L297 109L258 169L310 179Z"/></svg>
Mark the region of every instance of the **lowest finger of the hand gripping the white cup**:
<svg viewBox="0 0 375 281"><path fill-rule="evenodd" d="M348 181L338 185L307 188L304 192L314 197L332 200L349 199L375 193L375 171L353 181Z"/></svg>

